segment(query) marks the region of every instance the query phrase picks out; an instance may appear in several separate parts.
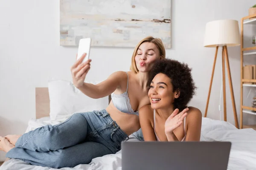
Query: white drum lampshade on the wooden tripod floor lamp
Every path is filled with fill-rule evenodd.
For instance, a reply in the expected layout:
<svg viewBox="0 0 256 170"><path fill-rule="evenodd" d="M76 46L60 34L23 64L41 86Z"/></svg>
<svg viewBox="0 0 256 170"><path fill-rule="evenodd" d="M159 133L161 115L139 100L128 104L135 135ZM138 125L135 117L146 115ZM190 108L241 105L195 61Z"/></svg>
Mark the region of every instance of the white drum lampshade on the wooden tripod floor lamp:
<svg viewBox="0 0 256 170"><path fill-rule="evenodd" d="M215 20L206 24L204 35L205 47L240 45L237 20Z"/></svg>

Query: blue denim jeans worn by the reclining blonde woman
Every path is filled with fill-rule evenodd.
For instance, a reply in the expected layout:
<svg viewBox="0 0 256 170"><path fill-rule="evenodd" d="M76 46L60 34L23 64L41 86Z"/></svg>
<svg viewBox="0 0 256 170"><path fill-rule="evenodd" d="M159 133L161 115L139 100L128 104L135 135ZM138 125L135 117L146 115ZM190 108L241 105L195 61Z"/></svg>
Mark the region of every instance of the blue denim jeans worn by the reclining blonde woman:
<svg viewBox="0 0 256 170"><path fill-rule="evenodd" d="M75 113L58 125L23 134L6 157L44 167L75 167L118 152L127 137L105 110Z"/></svg>

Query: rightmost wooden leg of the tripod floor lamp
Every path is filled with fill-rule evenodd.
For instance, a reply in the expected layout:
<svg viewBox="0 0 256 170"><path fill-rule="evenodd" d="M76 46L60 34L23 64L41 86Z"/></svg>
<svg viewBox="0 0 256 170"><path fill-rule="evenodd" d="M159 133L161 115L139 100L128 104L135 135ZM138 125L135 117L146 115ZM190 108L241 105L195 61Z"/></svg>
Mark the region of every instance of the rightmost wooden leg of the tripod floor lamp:
<svg viewBox="0 0 256 170"><path fill-rule="evenodd" d="M226 45L224 46L224 53L225 53L225 58L226 58L226 63L227 63L227 75L228 75L228 80L229 80L229 84L230 84L230 94L231 94L231 100L232 100L232 105L233 105L234 119L235 119L236 128L239 128L237 114L236 114L236 103L235 103L235 97L234 97L234 92L233 92L233 84L232 84L232 79L231 79L230 65L229 65Z"/></svg>

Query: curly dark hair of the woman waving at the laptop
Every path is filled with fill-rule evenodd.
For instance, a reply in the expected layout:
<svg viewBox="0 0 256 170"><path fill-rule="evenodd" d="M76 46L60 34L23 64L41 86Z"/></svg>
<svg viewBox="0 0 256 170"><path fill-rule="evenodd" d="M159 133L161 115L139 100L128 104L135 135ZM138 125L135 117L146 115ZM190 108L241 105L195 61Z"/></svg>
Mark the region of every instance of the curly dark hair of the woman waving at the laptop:
<svg viewBox="0 0 256 170"><path fill-rule="evenodd" d="M195 82L191 75L191 68L186 63L178 62L175 59L160 59L154 63L149 72L147 88L149 90L151 81L154 77L163 73L171 79L173 92L180 91L180 96L174 100L174 108L180 111L187 107L192 97L195 95Z"/></svg>

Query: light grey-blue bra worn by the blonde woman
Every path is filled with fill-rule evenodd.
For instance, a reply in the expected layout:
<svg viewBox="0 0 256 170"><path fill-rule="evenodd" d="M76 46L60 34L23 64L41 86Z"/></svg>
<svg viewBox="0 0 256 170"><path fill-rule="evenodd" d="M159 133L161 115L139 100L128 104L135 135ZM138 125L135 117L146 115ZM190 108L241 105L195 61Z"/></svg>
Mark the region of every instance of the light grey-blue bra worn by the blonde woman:
<svg viewBox="0 0 256 170"><path fill-rule="evenodd" d="M139 116L139 111L134 112L134 110L131 108L130 98L128 96L128 82L129 82L129 76L127 74L127 88L126 91L122 94L111 94L111 99L114 104L114 106L123 113L128 114L136 114Z"/></svg>

